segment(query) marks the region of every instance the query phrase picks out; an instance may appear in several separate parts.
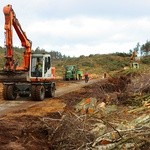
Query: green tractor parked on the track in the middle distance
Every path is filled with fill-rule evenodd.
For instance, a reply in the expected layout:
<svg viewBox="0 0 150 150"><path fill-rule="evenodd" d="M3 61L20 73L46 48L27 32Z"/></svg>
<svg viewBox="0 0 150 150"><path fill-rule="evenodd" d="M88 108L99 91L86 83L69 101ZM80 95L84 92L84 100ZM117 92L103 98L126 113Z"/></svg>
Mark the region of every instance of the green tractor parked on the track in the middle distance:
<svg viewBox="0 0 150 150"><path fill-rule="evenodd" d="M81 80L83 72L76 65L65 66L64 80Z"/></svg>

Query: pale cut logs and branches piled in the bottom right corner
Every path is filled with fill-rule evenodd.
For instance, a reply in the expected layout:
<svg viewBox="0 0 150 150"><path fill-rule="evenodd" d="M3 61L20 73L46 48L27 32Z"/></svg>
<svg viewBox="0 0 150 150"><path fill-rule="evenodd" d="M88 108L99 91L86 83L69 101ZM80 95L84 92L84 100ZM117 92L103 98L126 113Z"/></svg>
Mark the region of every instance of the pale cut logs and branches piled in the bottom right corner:
<svg viewBox="0 0 150 150"><path fill-rule="evenodd" d="M127 124L115 124L103 120L111 129L97 137L92 147L97 149L149 149L150 116L143 114Z"/></svg>

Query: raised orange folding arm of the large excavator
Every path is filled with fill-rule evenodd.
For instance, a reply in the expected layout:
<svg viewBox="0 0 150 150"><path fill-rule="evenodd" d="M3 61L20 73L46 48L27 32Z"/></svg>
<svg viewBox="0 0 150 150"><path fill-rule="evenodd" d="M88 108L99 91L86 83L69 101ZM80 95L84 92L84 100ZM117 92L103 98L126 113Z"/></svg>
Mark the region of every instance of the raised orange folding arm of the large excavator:
<svg viewBox="0 0 150 150"><path fill-rule="evenodd" d="M28 71L30 65L30 55L32 42L27 38L25 32L22 30L21 25L16 18L15 12L11 5L7 5L3 8L3 13L5 16L5 45L6 45L6 62L4 65L5 71ZM24 51L24 61L21 66L17 66L17 62L14 60L14 50L13 50L13 28L15 29L22 46L25 48Z"/></svg>

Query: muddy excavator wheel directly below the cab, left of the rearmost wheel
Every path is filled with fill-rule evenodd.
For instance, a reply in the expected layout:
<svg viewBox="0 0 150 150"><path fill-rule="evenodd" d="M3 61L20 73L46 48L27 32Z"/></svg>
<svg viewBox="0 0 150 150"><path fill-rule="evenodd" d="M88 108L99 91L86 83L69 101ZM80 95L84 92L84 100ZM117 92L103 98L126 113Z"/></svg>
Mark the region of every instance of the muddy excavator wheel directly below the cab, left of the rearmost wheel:
<svg viewBox="0 0 150 150"><path fill-rule="evenodd" d="M38 85L36 87L36 101L42 101L45 98L44 86Z"/></svg>

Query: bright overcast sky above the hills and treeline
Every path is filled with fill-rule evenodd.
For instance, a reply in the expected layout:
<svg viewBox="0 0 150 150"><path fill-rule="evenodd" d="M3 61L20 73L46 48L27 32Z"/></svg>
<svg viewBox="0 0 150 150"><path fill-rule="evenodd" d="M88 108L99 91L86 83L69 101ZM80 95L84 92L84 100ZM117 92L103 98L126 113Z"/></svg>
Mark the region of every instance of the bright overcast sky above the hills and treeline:
<svg viewBox="0 0 150 150"><path fill-rule="evenodd" d="M129 52L150 39L150 0L1 0L0 46L4 46L7 4L33 49L87 56ZM21 47L15 33L13 42Z"/></svg>

